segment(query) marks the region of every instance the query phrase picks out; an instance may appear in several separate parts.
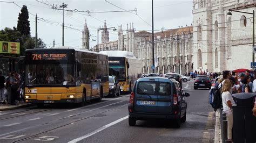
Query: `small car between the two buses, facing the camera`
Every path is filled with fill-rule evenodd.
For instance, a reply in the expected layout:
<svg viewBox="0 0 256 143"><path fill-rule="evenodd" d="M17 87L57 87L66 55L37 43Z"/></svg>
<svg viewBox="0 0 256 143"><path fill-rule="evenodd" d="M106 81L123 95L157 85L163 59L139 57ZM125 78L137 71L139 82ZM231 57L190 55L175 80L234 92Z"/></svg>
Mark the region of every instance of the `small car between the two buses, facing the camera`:
<svg viewBox="0 0 256 143"><path fill-rule="evenodd" d="M109 76L109 95L113 97L120 95L120 84L116 76Z"/></svg>

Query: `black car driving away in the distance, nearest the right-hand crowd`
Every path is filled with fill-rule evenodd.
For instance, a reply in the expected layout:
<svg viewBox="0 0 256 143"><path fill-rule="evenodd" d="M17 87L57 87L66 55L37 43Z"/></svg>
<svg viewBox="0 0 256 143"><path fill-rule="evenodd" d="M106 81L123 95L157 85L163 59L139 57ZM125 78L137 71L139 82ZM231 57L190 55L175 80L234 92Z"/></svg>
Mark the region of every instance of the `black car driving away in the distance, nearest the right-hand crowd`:
<svg viewBox="0 0 256 143"><path fill-rule="evenodd" d="M194 89L198 88L208 88L211 89L211 80L206 75L199 75L194 80Z"/></svg>

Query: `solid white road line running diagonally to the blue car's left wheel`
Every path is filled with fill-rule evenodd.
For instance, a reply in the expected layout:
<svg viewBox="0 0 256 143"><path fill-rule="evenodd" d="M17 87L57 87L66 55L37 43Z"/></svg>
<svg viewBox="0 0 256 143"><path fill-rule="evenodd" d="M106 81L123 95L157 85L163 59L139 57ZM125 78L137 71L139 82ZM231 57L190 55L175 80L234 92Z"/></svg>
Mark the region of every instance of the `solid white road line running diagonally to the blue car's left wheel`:
<svg viewBox="0 0 256 143"><path fill-rule="evenodd" d="M73 140L69 141L68 143L78 142L78 141L80 141L80 140L83 140L83 139L85 139L85 138L88 138L88 137L92 136L93 134L96 134L96 133L98 133L98 132L100 132L100 131L102 131L102 130L105 130L106 128L111 127L111 126L113 126L113 125L115 125L115 124L119 123L120 121L123 121L123 120L125 120L125 119L127 119L127 118L128 118L128 116L125 116L125 117L123 117L123 118L120 118L120 119L118 119L118 120L116 120L116 121L113 121L113 122L110 123L110 124L107 124L107 125L105 125L105 126L102 126L102 127L98 128L97 130L95 130L95 131L93 131L93 132L90 132L90 133L88 133L88 134L85 134L85 135L83 135L82 137L73 139Z"/></svg>

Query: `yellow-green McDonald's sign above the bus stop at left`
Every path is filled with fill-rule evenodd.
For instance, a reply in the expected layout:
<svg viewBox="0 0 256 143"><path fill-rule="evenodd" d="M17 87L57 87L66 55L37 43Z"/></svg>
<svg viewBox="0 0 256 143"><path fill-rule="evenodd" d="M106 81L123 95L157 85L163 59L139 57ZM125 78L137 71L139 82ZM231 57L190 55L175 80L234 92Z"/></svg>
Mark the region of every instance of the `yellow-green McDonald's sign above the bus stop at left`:
<svg viewBox="0 0 256 143"><path fill-rule="evenodd" d="M19 42L0 41L0 53L19 54Z"/></svg>

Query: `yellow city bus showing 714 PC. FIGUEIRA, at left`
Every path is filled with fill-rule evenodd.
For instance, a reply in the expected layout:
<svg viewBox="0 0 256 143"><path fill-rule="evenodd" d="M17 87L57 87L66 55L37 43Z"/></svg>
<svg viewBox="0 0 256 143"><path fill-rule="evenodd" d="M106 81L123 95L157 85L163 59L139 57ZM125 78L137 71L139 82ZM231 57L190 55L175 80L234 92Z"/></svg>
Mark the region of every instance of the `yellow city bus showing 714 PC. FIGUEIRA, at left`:
<svg viewBox="0 0 256 143"><path fill-rule="evenodd" d="M108 57L84 49L25 51L25 102L39 108L49 103L102 101L109 94Z"/></svg>

